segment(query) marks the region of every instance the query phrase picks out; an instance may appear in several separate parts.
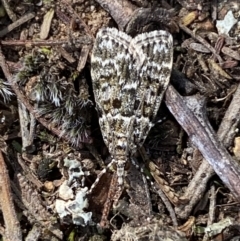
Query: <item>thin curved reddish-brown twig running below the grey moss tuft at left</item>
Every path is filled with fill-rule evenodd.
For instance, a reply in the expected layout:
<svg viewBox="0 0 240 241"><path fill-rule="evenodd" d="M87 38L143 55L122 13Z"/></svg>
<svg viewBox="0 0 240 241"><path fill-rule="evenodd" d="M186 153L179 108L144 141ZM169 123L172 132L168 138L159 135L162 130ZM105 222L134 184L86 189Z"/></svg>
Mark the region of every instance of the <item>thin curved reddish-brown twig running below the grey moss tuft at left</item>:
<svg viewBox="0 0 240 241"><path fill-rule="evenodd" d="M40 115L38 113L36 113L34 107L29 103L29 101L21 93L17 83L15 83L12 78L12 75L8 69L8 66L6 64L6 61L5 61L1 48L0 48L0 66L2 67L3 73L4 73L5 77L7 78L8 82L11 84L11 87L14 90L18 100L22 104L25 105L25 107L28 109L28 111L48 130L52 131L58 137L61 137L63 139L66 139L67 141L70 141L66 136L61 135L61 131L58 128L53 127L50 122L47 122L44 118L40 117Z"/></svg>

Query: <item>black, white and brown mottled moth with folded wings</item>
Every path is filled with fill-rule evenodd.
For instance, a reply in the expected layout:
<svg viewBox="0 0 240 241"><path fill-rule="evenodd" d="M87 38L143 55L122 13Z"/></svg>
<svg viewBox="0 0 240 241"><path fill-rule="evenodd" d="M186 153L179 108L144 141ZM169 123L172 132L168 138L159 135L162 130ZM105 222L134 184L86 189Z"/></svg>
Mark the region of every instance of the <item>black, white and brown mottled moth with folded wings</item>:
<svg viewBox="0 0 240 241"><path fill-rule="evenodd" d="M91 76L99 125L123 184L124 167L153 126L173 63L167 31L130 37L115 28L101 29L91 56Z"/></svg>

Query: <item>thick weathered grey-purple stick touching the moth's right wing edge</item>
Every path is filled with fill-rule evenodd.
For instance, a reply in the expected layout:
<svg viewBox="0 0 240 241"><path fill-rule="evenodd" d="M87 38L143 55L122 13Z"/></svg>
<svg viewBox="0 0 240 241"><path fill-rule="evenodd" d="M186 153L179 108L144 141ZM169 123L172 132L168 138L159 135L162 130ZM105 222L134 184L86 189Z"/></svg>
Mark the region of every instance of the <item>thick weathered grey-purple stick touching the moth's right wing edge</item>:
<svg viewBox="0 0 240 241"><path fill-rule="evenodd" d="M194 100L192 99L191 101ZM217 140L208 123L202 122L198 117L200 113L194 115L189 104L190 102L184 100L171 85L166 91L165 103L179 124L187 132L192 143L211 164L214 171L231 190L235 198L240 201L240 165L232 159L223 144Z"/></svg>

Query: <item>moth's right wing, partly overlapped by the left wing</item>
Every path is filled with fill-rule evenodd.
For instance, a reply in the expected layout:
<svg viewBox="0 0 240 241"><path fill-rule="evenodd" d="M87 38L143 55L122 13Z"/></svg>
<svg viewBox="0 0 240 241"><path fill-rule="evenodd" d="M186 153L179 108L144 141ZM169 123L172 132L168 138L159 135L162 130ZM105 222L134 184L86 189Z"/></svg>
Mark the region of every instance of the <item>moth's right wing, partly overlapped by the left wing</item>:
<svg viewBox="0 0 240 241"><path fill-rule="evenodd" d="M131 45L143 50L145 64L140 70L140 88L136 99L140 106L136 111L135 141L142 146L162 102L170 81L173 64L173 39L166 31L153 31L137 35Z"/></svg>

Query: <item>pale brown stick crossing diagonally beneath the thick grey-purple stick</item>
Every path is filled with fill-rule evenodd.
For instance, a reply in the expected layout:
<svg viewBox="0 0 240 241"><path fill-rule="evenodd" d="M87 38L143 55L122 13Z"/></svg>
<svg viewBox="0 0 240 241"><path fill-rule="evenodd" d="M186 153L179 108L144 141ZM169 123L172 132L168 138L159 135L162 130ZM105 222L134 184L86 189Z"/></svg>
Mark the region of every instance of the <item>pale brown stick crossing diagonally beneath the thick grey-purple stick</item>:
<svg viewBox="0 0 240 241"><path fill-rule="evenodd" d="M217 132L218 138L225 147L229 147L236 135L236 129L240 122L240 85L238 86L232 102L225 113ZM211 165L203 160L192 181L189 183L184 196L191 198L188 205L176 208L176 213L181 218L187 218L193 207L200 200L202 193L206 190L208 180L214 175Z"/></svg>

